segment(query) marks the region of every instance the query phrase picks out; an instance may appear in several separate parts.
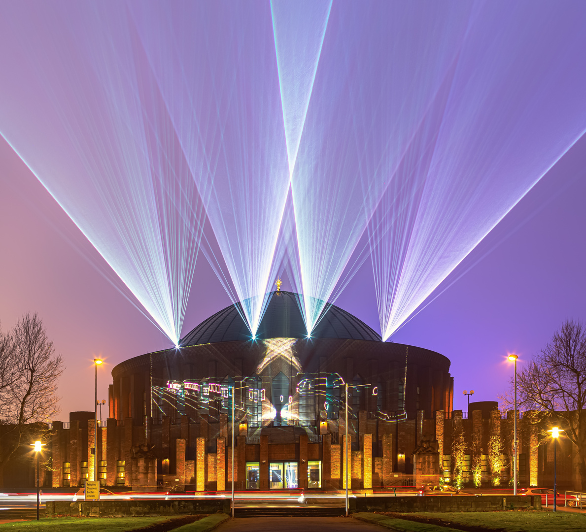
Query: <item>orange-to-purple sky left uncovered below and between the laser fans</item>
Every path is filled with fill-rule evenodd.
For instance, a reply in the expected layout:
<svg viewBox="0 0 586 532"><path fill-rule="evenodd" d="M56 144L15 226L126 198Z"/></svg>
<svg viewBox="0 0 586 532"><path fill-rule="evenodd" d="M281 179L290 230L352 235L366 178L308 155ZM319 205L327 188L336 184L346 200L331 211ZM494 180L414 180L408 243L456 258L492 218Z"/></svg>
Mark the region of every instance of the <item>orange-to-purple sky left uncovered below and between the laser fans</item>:
<svg viewBox="0 0 586 532"><path fill-rule="evenodd" d="M496 400L512 374L506 353L519 354L522 365L563 320L586 318L585 178L582 138L432 297L465 275L393 336L451 360L454 408L466 408L462 390L471 388L473 400ZM94 356L107 362L98 375L101 399L107 398L115 364L169 347L107 280L115 274L1 138L0 228L2 328L25 312L42 317L66 363L60 419L68 420L69 411L92 410ZM200 294L190 299L184 334L230 304L202 256L194 285ZM336 304L379 330L368 261Z"/></svg>

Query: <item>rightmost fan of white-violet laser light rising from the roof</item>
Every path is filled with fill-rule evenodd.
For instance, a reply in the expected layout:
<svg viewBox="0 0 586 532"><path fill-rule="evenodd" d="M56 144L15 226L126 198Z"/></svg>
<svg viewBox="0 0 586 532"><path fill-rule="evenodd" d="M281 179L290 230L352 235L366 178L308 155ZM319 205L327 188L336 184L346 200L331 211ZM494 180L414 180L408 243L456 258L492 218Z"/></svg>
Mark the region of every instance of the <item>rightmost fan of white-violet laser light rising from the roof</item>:
<svg viewBox="0 0 586 532"><path fill-rule="evenodd" d="M383 339L584 134L583 22L577 4L476 6L432 156L411 165L424 179L395 174L406 186L374 224Z"/></svg>

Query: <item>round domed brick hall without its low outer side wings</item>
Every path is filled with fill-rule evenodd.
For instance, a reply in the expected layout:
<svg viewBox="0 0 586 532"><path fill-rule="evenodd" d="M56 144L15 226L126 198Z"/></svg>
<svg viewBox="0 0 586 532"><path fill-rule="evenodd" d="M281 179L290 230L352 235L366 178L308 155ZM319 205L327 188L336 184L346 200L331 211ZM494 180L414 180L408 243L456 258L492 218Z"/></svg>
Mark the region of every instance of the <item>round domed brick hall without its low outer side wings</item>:
<svg viewBox="0 0 586 532"><path fill-rule="evenodd" d="M382 342L335 305L308 337L299 295L268 297L254 339L237 303L200 323L178 349L114 367L105 483L132 483L130 449L148 443L159 483L231 489L234 427L237 490L339 489L346 384L352 486L413 473L412 451L435 439L433 412L452 410L449 360ZM110 444L114 420L118 432L124 427L120 445Z"/></svg>

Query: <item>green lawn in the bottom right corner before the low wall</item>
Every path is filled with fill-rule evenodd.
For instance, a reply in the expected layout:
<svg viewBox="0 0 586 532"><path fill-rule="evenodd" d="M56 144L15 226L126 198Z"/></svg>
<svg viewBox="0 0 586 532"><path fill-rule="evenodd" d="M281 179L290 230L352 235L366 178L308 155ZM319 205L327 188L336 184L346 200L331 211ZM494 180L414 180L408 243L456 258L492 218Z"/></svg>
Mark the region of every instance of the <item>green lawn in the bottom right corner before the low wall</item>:
<svg viewBox="0 0 586 532"><path fill-rule="evenodd" d="M410 513L454 524L506 532L574 532L586 530L586 514L569 511L469 511L464 513ZM444 528L445 530L445 528Z"/></svg>

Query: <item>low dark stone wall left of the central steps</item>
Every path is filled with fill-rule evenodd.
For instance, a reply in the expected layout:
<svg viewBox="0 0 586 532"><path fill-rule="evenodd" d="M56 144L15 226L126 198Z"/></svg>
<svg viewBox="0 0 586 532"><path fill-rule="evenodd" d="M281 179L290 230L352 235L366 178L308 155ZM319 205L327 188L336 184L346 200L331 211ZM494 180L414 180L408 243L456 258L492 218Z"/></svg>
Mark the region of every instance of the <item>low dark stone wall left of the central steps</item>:
<svg viewBox="0 0 586 532"><path fill-rule="evenodd" d="M98 500L67 502L50 500L45 504L47 517L135 517L180 516L189 514L230 513L230 499L204 500Z"/></svg>

